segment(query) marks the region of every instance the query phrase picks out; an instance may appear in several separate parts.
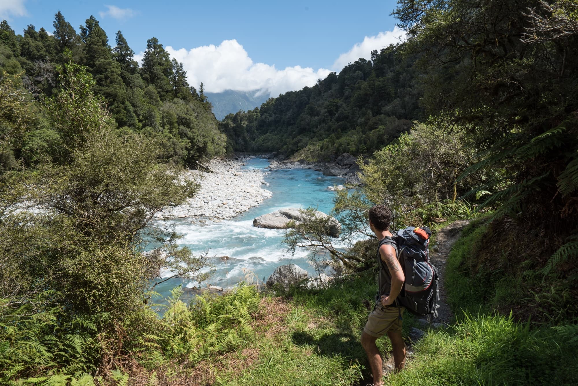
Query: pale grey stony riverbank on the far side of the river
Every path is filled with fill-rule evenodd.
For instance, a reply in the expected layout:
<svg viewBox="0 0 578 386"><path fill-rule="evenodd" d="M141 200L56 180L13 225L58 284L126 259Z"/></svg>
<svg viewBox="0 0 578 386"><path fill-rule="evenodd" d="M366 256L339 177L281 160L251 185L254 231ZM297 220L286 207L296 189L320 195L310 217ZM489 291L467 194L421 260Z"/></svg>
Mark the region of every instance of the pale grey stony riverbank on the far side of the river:
<svg viewBox="0 0 578 386"><path fill-rule="evenodd" d="M156 214L157 219L195 218L204 221L225 220L257 206L272 193L263 188L266 182L261 170L242 169L242 160L212 159L206 168L188 170L186 178L201 185L194 197L183 205L168 207Z"/></svg>

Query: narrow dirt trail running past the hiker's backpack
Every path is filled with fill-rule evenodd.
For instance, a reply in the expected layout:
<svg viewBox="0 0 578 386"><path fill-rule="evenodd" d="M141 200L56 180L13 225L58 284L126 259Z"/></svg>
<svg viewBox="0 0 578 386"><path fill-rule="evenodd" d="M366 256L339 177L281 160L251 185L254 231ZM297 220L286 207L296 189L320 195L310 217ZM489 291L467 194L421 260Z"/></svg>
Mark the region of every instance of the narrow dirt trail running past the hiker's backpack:
<svg viewBox="0 0 578 386"><path fill-rule="evenodd" d="M450 255L451 246L453 246L455 240L460 237L462 229L469 224L469 221L470 220L456 220L433 235L433 237L435 237L435 246L429 248L429 258L438 270L440 297L438 302L438 317L434 318L433 322L449 323L453 317L450 306L447 305L446 302L446 289L443 284L446 274L446 260Z"/></svg>

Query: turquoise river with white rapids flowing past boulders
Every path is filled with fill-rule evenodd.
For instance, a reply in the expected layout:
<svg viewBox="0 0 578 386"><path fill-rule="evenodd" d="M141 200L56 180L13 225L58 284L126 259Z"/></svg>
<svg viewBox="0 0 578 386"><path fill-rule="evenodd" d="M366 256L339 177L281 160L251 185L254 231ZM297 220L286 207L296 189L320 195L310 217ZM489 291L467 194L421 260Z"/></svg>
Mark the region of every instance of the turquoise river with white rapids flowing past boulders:
<svg viewBox="0 0 578 386"><path fill-rule="evenodd" d="M343 184L344 181L311 169L268 170L268 166L269 162L260 158L247 159L243 166L244 169L261 169L264 172L264 180L269 184L266 189L273 196L265 199L261 205L221 222L195 221L195 224L191 224L191 219L171 220L176 225L176 231L183 235L181 245L191 248L195 254L204 251L214 257L211 262L216 272L209 280L212 285L231 287L247 275L250 281L256 278L266 281L277 266L290 263L314 274L314 269L307 262L310 251L298 248L292 255L283 244L284 230L255 228L253 219L287 207L317 207L317 210L328 213L333 207L335 192L327 187ZM338 240L336 246L339 244ZM229 259L223 261L221 256L228 256ZM168 296L172 288L180 285L191 287L198 283L171 279L157 285L155 291Z"/></svg>

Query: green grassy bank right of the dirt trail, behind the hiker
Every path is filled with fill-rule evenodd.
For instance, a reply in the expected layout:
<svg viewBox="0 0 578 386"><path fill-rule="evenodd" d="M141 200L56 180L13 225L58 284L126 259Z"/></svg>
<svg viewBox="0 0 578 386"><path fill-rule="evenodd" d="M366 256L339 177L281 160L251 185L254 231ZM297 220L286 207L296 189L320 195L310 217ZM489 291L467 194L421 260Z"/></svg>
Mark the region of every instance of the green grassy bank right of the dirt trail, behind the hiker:
<svg viewBox="0 0 578 386"><path fill-rule="evenodd" d="M457 322L430 329L406 369L390 376L388 384L575 384L578 325L520 321L507 306L524 302L524 287L500 270L505 255L495 256L498 263L479 263L477 251L487 242L486 219L464 229L445 275L447 302Z"/></svg>

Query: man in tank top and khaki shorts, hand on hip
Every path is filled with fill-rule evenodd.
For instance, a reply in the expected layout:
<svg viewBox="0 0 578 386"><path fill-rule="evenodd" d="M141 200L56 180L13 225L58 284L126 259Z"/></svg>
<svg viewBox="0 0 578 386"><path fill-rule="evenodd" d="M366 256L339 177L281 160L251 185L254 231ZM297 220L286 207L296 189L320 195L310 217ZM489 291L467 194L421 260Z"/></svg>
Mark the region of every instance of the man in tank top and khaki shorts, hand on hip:
<svg viewBox="0 0 578 386"><path fill-rule="evenodd" d="M381 353L376 340L387 333L391 340L395 371L405 365L405 343L401 335L403 307L397 306L395 299L401 292L405 276L398 261L397 246L390 237L391 211L385 205L376 205L369 209L369 227L379 240L377 259L379 263L379 299L369 315L361 334L361 345L367 352L373 374L373 385L383 385L381 380ZM381 260L381 262L379 261Z"/></svg>

